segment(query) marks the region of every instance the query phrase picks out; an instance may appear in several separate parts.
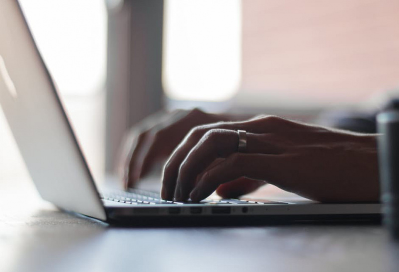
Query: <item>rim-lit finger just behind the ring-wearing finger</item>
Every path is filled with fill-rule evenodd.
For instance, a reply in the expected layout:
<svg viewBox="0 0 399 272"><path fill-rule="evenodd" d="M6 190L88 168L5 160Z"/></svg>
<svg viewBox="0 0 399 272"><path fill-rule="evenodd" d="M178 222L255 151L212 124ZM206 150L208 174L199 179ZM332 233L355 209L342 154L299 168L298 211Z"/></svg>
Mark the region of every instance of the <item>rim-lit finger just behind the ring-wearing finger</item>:
<svg viewBox="0 0 399 272"><path fill-rule="evenodd" d="M262 116L248 121L219 122L198 126L190 131L182 143L175 149L165 164L162 177L161 196L163 199L172 200L175 194L176 181L179 168L190 150L198 143L203 135L210 129L246 130L252 133L273 133L284 129L290 121L276 116Z"/></svg>

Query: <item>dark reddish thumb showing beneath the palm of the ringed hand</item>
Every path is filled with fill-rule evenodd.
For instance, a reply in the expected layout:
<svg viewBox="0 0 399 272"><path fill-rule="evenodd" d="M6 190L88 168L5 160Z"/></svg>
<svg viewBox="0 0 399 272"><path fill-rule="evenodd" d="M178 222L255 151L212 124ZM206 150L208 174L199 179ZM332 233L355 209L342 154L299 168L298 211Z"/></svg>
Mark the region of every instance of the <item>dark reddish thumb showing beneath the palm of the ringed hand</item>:
<svg viewBox="0 0 399 272"><path fill-rule="evenodd" d="M222 198L236 198L252 193L265 184L266 182L262 180L252 180L241 177L219 185L216 189L216 193Z"/></svg>

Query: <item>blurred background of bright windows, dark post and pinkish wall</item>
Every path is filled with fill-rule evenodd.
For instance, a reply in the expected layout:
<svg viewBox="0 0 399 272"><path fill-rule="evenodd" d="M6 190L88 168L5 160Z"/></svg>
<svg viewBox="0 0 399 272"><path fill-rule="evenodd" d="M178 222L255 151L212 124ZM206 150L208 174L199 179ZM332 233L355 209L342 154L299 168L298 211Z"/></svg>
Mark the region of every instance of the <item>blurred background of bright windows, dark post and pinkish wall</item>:
<svg viewBox="0 0 399 272"><path fill-rule="evenodd" d="M160 109L312 121L399 86L397 0L20 3L98 180ZM26 176L0 111L0 180Z"/></svg>

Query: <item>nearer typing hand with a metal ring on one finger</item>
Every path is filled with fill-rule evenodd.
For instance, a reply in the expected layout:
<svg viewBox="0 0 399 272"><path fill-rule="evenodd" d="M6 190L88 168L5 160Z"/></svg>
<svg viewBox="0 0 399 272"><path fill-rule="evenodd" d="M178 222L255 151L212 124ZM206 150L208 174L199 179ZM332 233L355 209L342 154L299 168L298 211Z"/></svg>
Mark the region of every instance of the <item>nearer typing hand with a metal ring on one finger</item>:
<svg viewBox="0 0 399 272"><path fill-rule="evenodd" d="M246 153L238 153L237 130L247 131ZM192 129L163 174L161 193L167 200L200 201L215 190L236 197L265 182L316 201L379 200L375 135L276 116Z"/></svg>

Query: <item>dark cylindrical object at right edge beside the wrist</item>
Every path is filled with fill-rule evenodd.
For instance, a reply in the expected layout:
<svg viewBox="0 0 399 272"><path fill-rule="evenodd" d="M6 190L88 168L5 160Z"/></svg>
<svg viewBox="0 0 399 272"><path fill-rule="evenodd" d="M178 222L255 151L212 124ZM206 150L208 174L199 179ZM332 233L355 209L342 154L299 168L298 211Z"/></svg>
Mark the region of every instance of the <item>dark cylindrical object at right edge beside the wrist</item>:
<svg viewBox="0 0 399 272"><path fill-rule="evenodd" d="M399 239L399 110L380 113L377 123L384 224Z"/></svg>

